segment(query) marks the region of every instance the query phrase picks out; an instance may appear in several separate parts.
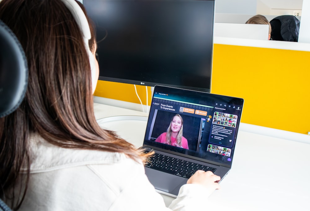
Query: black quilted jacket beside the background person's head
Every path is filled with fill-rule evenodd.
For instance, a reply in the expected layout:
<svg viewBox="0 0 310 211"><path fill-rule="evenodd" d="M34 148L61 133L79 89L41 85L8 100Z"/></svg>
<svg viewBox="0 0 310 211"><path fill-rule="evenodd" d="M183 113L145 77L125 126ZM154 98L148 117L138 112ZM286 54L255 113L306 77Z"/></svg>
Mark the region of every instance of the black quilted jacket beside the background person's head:
<svg viewBox="0 0 310 211"><path fill-rule="evenodd" d="M300 21L294 15L281 15L270 21L272 40L298 42Z"/></svg>

